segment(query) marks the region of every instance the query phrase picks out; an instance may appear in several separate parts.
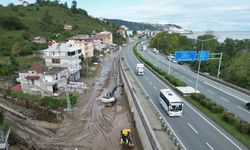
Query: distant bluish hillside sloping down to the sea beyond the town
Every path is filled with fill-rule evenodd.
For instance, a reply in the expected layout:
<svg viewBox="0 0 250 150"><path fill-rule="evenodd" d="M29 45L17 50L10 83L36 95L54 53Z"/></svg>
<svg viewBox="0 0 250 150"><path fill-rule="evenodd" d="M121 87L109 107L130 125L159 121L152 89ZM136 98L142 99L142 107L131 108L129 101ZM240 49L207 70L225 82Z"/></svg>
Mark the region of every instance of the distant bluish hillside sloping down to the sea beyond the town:
<svg viewBox="0 0 250 150"><path fill-rule="evenodd" d="M107 21L113 22L116 25L125 25L129 28L129 30L167 30L169 28L177 28L181 29L182 27L175 25L175 24L150 24L150 23L143 23L143 22L131 22L119 19L105 19Z"/></svg>

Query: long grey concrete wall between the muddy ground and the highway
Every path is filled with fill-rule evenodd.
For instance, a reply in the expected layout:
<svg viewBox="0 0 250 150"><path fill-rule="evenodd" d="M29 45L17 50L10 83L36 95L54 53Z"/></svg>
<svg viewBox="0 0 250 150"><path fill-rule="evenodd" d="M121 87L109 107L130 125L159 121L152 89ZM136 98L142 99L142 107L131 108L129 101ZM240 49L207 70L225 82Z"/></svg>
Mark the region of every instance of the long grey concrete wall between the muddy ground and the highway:
<svg viewBox="0 0 250 150"><path fill-rule="evenodd" d="M122 58L123 57L121 57L121 59ZM121 60L119 60L119 63L121 63ZM140 103L138 102L138 98L136 96L136 93L135 93L131 83L129 82L129 79L128 79L125 71L124 71L124 68L123 68L122 65L120 65L120 66L121 66L120 67L120 72L122 73L121 76L122 76L122 79L125 81L124 87L127 86L128 87L127 89L129 90L128 92L126 92L127 96L128 95L131 96L132 102L133 102L133 104L134 104L134 106L136 108L135 110L133 110L133 108L131 108L131 111L134 113L134 115L137 115L137 113L138 113L138 117L137 116L134 116L134 117L140 119L139 121L141 122L141 124L142 124L142 126L144 128L145 133L141 133L141 132L138 131L139 136L141 137L141 140L143 140L142 141L143 147L146 148L146 149L161 150L160 144L156 139L156 136L155 136L155 134L154 134L154 132L153 132L151 126L150 126L149 121L147 120L147 117L146 117ZM125 91L126 91L126 88L125 88ZM132 104L130 104L130 105L132 105ZM134 111L136 111L136 112L134 112ZM138 121L138 120L136 120L136 121ZM137 126L137 128L138 128L138 126ZM141 130L141 128L140 128L140 130ZM145 139L144 134L146 134L148 139ZM149 143L150 143L151 148L148 147Z"/></svg>

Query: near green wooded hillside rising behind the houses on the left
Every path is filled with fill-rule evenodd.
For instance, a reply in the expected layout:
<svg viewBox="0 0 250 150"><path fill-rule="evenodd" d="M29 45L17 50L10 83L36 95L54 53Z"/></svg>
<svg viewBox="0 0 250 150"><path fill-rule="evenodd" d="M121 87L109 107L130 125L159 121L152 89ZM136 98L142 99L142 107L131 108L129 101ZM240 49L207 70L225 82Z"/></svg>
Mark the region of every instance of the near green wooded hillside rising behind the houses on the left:
<svg viewBox="0 0 250 150"><path fill-rule="evenodd" d="M64 24L72 25L73 29L64 30ZM83 9L68 8L66 4L58 2L42 1L39 5L27 7L11 4L0 6L0 55L9 55L16 43L22 48L21 55L46 47L46 44L31 43L36 36L61 41L78 33L108 30L113 32L114 42L121 44L124 39L116 33L117 29L113 23L88 16Z"/></svg>

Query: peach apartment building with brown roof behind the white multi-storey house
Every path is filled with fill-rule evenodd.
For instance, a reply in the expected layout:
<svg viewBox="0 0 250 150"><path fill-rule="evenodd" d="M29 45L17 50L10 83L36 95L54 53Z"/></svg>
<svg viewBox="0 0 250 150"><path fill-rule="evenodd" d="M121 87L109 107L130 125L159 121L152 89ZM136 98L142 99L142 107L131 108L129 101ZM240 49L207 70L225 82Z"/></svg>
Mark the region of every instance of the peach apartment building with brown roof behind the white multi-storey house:
<svg viewBox="0 0 250 150"><path fill-rule="evenodd" d="M67 39L67 43L80 47L84 58L94 56L94 39L89 35L79 34Z"/></svg>

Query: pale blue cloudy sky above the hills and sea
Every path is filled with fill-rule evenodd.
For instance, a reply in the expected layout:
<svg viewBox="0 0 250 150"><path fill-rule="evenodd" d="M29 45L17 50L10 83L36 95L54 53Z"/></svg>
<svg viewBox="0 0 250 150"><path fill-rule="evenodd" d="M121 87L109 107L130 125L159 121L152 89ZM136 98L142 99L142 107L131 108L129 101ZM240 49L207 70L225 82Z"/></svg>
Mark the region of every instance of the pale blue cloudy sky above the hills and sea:
<svg viewBox="0 0 250 150"><path fill-rule="evenodd" d="M26 0L30 3L35 0ZM69 4L72 0L60 0ZM250 0L76 0L94 17L172 23L194 31L250 31ZM0 0L6 5L17 0Z"/></svg>

